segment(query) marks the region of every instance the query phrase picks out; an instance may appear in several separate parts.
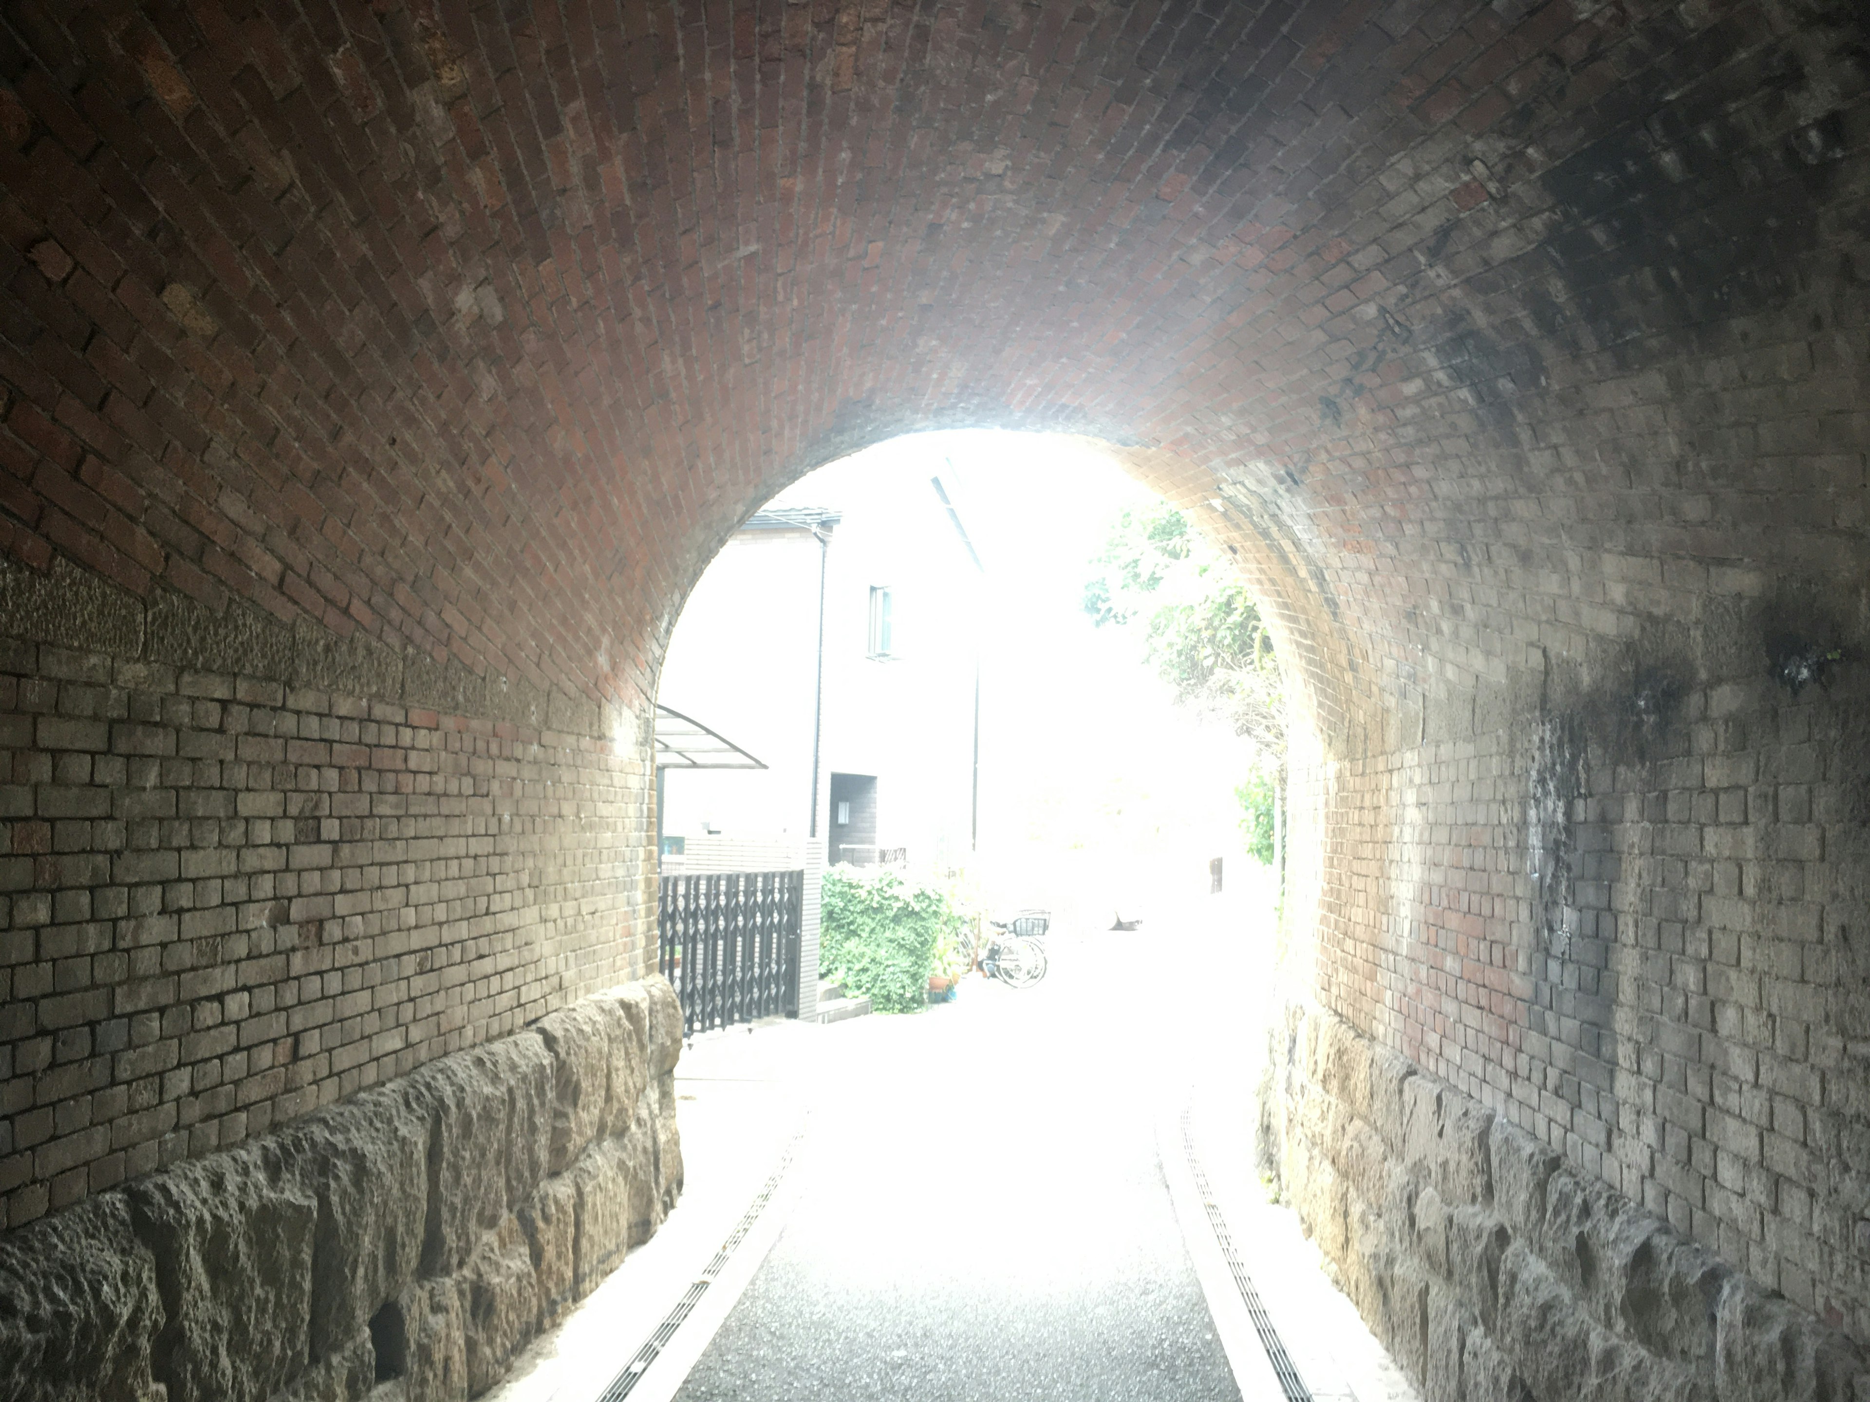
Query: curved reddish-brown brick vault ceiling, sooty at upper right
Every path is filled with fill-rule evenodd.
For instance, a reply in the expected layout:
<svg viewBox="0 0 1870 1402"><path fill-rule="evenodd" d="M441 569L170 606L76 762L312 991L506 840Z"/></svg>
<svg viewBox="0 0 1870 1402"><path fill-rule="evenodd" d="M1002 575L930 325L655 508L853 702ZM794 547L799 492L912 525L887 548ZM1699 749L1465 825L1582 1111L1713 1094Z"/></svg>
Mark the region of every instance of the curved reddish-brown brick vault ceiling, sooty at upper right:
<svg viewBox="0 0 1870 1402"><path fill-rule="evenodd" d="M34 568L634 699L765 494L993 424L1232 503L1326 705L1861 587L1849 4L15 4L0 43Z"/></svg>

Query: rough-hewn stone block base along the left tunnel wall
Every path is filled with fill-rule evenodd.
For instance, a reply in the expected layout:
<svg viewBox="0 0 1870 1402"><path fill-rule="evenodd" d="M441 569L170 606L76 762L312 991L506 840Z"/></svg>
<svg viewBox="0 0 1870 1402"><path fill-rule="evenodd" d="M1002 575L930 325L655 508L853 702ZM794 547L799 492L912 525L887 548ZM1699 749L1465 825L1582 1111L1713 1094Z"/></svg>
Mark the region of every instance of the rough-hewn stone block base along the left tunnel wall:
<svg viewBox="0 0 1870 1402"><path fill-rule="evenodd" d="M683 1185L660 978L0 1239L15 1402L484 1393Z"/></svg>

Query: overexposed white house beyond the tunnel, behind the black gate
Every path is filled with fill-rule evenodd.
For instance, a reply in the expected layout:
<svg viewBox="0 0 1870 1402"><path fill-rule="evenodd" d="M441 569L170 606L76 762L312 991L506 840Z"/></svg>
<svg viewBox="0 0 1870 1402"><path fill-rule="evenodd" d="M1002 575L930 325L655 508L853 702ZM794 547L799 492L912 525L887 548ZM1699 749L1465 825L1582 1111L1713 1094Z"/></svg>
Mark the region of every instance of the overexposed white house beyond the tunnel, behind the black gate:
<svg viewBox="0 0 1870 1402"><path fill-rule="evenodd" d="M748 520L675 626L658 701L765 768L658 774L664 871L974 849L984 579L957 484L840 473L823 492L808 479Z"/></svg>

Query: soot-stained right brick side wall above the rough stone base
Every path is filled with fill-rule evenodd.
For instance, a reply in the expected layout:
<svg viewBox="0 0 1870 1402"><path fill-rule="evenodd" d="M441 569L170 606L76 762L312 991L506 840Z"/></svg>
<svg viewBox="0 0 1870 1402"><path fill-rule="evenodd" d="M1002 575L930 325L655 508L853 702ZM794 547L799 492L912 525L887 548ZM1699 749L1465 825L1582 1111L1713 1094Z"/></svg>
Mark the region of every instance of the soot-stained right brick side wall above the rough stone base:
<svg viewBox="0 0 1870 1402"><path fill-rule="evenodd" d="M1556 837L1526 811L1550 772L1532 725L1311 770L1300 791L1331 798L1302 968L1380 1043L1870 1338L1863 677L1685 684L1646 714L1642 667L1606 673L1548 707L1576 738Z"/></svg>

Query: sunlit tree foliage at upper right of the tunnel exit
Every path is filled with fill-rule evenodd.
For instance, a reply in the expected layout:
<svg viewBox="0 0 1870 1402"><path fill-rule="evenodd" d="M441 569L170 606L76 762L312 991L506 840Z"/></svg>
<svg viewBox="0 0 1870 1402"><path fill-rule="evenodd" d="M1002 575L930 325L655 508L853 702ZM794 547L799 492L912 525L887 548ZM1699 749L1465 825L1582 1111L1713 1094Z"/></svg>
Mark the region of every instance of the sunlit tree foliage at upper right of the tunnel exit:
<svg viewBox="0 0 1870 1402"><path fill-rule="evenodd" d="M1272 765L1285 757L1279 660L1227 557L1167 503L1126 510L1085 583L1100 626L1141 624L1144 651L1176 697L1232 725Z"/></svg>

